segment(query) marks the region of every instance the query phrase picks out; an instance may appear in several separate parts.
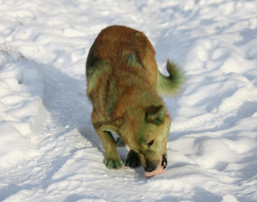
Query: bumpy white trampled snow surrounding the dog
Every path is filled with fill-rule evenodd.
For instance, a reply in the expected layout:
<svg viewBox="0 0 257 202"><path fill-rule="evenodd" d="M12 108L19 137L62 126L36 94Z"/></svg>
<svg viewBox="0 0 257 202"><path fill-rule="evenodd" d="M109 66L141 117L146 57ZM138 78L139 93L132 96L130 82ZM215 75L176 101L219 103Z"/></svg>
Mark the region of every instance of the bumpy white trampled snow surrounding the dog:
<svg viewBox="0 0 257 202"><path fill-rule="evenodd" d="M90 121L85 61L112 24L186 71L149 180L106 169ZM257 201L257 1L2 0L0 51L0 201Z"/></svg>

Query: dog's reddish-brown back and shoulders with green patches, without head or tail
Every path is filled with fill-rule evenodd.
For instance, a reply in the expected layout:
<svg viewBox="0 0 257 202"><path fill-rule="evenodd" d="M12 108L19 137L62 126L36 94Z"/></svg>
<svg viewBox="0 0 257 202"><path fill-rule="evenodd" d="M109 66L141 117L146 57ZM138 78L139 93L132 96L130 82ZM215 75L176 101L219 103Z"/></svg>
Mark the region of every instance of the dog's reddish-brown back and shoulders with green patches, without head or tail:
<svg viewBox="0 0 257 202"><path fill-rule="evenodd" d="M155 51L146 36L125 26L109 26L94 41L86 62L87 95L97 114L109 119L115 103L129 90L155 92ZM136 102L136 101L134 101Z"/></svg>

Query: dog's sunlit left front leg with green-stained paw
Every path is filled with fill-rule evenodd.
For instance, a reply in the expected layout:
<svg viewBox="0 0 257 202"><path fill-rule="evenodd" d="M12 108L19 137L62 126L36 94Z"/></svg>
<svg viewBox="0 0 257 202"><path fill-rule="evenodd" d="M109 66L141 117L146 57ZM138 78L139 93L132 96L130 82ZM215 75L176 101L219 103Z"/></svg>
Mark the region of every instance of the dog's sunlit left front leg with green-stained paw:
<svg viewBox="0 0 257 202"><path fill-rule="evenodd" d="M109 131L100 131L96 124L93 125L104 146L105 166L109 169L120 169L122 167L122 162L118 155L116 142L112 136L112 133Z"/></svg>

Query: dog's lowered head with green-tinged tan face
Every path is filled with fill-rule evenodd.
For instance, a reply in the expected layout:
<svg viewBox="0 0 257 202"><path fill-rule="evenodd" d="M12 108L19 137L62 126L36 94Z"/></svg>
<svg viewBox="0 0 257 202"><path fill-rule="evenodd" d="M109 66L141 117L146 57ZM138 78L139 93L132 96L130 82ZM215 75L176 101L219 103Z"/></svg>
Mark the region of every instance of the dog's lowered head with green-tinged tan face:
<svg viewBox="0 0 257 202"><path fill-rule="evenodd" d="M130 149L139 154L145 171L167 166L170 116L163 105L134 108L112 126Z"/></svg>

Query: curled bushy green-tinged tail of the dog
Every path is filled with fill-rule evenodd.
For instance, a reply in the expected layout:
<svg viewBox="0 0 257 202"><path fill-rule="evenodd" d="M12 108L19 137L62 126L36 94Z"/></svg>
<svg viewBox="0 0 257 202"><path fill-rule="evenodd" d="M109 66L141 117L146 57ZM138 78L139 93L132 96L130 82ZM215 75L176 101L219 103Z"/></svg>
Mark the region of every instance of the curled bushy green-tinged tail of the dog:
<svg viewBox="0 0 257 202"><path fill-rule="evenodd" d="M175 96L185 82L185 75L180 66L175 62L170 62L169 59L166 68L170 76L164 76L158 70L156 88L160 95Z"/></svg>

